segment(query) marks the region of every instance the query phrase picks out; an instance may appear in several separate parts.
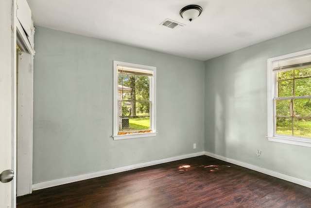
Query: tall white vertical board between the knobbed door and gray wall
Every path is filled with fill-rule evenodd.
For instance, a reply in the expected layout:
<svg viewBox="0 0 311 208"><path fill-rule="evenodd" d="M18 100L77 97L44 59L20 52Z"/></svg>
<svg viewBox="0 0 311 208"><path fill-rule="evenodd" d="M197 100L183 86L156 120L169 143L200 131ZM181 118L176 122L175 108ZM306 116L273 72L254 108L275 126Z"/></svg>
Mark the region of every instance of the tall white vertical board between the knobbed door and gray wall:
<svg viewBox="0 0 311 208"><path fill-rule="evenodd" d="M32 192L33 178L33 56L17 57L17 196Z"/></svg>

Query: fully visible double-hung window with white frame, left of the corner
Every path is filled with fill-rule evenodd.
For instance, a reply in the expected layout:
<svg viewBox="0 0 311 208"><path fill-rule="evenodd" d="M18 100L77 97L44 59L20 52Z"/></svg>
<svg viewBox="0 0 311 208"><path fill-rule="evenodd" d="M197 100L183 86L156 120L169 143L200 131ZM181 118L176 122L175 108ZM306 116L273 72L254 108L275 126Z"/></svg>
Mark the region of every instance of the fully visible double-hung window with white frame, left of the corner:
<svg viewBox="0 0 311 208"><path fill-rule="evenodd" d="M114 139L155 136L156 68L114 61Z"/></svg>

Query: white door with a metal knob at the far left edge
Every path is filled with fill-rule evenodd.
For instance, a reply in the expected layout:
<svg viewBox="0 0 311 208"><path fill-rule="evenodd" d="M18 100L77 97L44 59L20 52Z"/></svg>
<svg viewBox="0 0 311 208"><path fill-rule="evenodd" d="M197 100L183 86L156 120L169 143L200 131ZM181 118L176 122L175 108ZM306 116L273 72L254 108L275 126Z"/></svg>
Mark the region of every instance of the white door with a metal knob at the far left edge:
<svg viewBox="0 0 311 208"><path fill-rule="evenodd" d="M11 0L0 0L0 173L14 170L15 75ZM15 207L14 180L0 183L0 207Z"/></svg>

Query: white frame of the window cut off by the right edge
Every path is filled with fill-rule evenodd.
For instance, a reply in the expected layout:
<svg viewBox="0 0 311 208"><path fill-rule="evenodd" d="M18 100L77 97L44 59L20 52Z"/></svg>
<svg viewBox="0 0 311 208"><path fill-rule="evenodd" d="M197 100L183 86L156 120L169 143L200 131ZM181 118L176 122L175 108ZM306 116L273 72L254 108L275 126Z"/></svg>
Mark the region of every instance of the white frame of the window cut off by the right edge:
<svg viewBox="0 0 311 208"><path fill-rule="evenodd" d="M290 59L294 57L307 56L311 54L311 49L295 52L292 54L287 54L279 57L273 57L268 59L268 87L267 87L267 95L268 95L268 134L267 138L269 141L280 142L286 144L299 145L304 147L311 147L311 138L299 137L299 136L290 136L290 135L281 135L276 134L276 107L275 107L275 97L277 95L277 80L276 74L277 72L273 72L273 62L279 61L282 59Z"/></svg>

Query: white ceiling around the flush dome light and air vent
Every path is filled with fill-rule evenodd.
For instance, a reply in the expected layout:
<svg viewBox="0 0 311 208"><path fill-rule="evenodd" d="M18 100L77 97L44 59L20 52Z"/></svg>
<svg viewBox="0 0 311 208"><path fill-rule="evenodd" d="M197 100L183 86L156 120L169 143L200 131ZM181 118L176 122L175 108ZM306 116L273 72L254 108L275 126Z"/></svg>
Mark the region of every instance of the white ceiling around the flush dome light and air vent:
<svg viewBox="0 0 311 208"><path fill-rule="evenodd" d="M35 26L207 60L311 26L311 0L27 0ZM198 4L189 22L182 7ZM186 24L161 26L165 19Z"/></svg>

